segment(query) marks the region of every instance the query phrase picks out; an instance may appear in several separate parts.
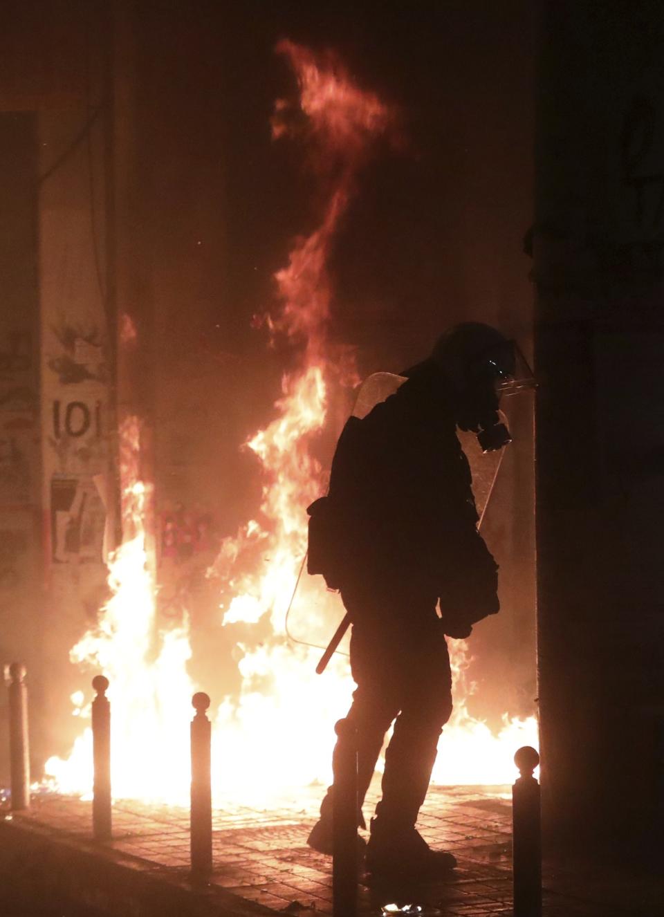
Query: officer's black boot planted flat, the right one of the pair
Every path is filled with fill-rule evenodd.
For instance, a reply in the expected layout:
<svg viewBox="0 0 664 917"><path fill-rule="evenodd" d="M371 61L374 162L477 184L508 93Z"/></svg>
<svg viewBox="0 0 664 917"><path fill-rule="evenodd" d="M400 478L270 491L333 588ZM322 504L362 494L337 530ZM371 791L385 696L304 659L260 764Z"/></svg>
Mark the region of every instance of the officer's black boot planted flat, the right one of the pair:
<svg viewBox="0 0 664 917"><path fill-rule="evenodd" d="M432 850L414 827L397 829L379 818L371 819L367 869L373 876L438 878L456 865L455 856L445 850Z"/></svg>

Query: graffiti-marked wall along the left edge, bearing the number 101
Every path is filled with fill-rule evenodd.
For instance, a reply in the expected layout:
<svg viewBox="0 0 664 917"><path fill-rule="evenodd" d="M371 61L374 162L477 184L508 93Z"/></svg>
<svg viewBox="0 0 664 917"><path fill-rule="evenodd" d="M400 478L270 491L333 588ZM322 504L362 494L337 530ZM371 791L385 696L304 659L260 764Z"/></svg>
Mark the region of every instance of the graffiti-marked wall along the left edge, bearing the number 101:
<svg viewBox="0 0 664 917"><path fill-rule="evenodd" d="M94 620L105 580L93 482L107 475L110 455L97 277L105 272L104 118L95 111L104 5L81 13L67 0L8 0L0 37L0 648L3 662L28 664L38 777L44 757L69 745L68 652Z"/></svg>

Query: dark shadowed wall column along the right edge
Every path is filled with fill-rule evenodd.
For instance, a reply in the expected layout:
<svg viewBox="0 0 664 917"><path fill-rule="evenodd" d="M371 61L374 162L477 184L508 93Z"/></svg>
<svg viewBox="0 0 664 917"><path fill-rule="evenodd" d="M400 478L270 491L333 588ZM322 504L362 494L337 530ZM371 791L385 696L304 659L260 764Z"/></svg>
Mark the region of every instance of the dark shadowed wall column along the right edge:
<svg viewBox="0 0 664 917"><path fill-rule="evenodd" d="M550 0L540 42L545 824L635 850L663 814L664 10Z"/></svg>

